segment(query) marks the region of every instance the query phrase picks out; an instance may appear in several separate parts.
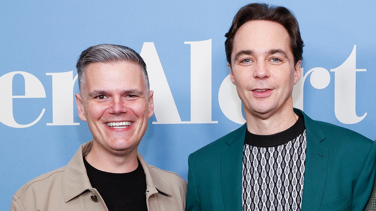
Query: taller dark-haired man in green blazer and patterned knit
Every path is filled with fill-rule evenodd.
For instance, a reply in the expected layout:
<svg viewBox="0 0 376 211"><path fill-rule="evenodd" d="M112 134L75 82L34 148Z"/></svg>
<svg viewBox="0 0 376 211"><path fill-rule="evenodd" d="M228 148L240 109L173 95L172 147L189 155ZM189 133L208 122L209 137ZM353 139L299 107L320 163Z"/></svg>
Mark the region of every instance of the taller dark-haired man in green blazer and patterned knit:
<svg viewBox="0 0 376 211"><path fill-rule="evenodd" d="M293 108L303 53L293 14L252 3L225 36L246 124L189 156L186 210L363 210L376 144Z"/></svg>

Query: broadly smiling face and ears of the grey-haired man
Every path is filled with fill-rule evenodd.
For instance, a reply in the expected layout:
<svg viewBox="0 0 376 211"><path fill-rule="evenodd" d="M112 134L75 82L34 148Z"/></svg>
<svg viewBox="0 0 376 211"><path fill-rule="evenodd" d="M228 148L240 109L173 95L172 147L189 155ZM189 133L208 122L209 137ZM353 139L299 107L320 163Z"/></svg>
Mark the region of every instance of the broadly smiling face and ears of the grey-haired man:
<svg viewBox="0 0 376 211"><path fill-rule="evenodd" d="M114 155L135 152L153 115L153 91L147 92L141 67L98 62L84 74L76 102L80 119L88 122L93 149Z"/></svg>

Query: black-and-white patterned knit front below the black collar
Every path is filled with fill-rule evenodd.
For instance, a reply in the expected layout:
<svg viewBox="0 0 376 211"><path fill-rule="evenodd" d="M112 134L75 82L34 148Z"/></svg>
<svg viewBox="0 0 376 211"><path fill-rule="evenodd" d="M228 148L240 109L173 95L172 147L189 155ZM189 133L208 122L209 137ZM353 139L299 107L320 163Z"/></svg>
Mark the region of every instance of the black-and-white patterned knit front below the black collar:
<svg viewBox="0 0 376 211"><path fill-rule="evenodd" d="M301 210L306 131L283 145L243 149L243 211Z"/></svg>

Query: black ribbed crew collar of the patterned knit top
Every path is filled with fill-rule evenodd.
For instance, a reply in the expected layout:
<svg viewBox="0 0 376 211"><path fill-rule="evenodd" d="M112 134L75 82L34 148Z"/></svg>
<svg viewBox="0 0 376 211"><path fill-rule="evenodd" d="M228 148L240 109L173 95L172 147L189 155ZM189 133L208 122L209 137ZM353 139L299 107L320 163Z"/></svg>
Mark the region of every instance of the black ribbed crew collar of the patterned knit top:
<svg viewBox="0 0 376 211"><path fill-rule="evenodd" d="M285 131L272 135L256 135L246 130L246 138L244 144L256 147L274 147L284 145L285 143L295 139L305 131L304 117L298 113L298 120L293 126Z"/></svg>

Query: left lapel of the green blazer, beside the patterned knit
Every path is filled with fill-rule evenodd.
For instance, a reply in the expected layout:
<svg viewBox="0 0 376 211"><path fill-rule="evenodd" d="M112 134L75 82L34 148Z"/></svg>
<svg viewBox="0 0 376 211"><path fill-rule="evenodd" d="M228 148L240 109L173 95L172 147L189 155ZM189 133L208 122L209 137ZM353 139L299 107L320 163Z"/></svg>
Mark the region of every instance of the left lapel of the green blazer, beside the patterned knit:
<svg viewBox="0 0 376 211"><path fill-rule="evenodd" d="M221 152L221 185L225 210L241 210L243 145L247 125L234 131Z"/></svg>

